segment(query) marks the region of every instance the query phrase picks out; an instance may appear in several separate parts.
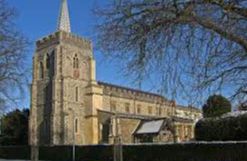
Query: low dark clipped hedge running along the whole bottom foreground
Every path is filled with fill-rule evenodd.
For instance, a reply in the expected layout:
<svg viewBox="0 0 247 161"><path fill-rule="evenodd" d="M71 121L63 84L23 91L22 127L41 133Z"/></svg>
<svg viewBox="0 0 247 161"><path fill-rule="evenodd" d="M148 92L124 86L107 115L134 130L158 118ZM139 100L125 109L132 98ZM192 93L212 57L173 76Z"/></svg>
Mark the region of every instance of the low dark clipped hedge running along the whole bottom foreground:
<svg viewBox="0 0 247 161"><path fill-rule="evenodd" d="M27 160L29 151L29 147L0 147L0 158ZM247 142L125 145L123 156L124 161L247 161ZM39 159L71 161L72 147L41 147ZM113 147L76 147L76 160L113 161Z"/></svg>

